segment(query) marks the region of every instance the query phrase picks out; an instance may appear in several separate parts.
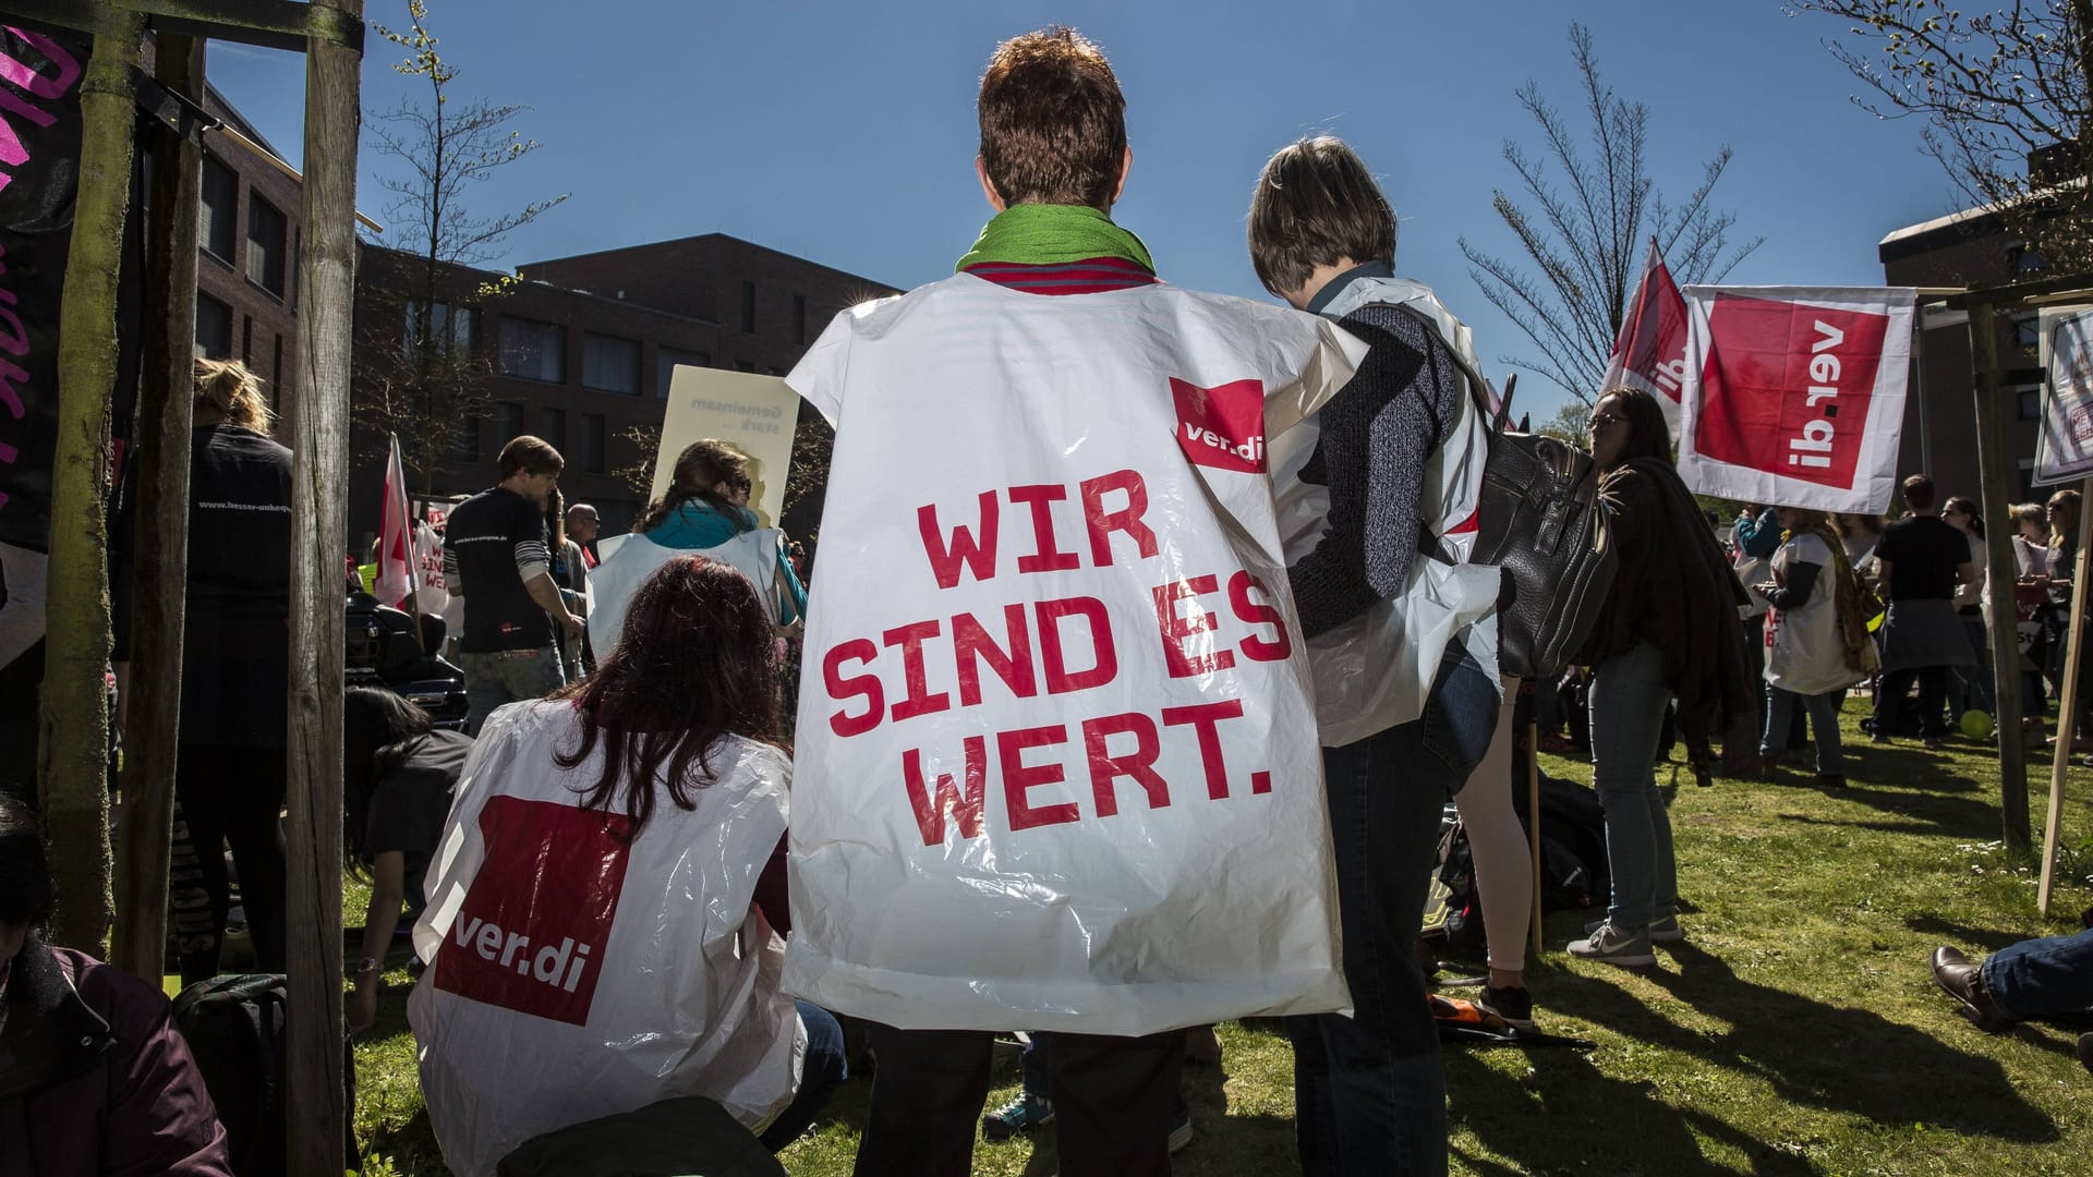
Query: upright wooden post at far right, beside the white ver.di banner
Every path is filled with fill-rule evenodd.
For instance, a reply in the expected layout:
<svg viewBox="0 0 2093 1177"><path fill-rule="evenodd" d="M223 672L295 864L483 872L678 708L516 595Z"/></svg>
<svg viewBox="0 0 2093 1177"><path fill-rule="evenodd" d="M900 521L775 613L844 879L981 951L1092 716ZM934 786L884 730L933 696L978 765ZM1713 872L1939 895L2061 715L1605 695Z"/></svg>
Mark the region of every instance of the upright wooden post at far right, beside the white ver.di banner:
<svg viewBox="0 0 2093 1177"><path fill-rule="evenodd" d="M1984 482L1984 517L2005 519L2013 503L2013 473L2007 457L2005 413L1999 406L1999 333L1990 302L1970 304L1972 387L1976 392L1976 463ZM2020 735L2020 628L2013 605L2013 545L1990 547L1990 626L1993 691L1999 708L1999 827L2007 846L2028 846L2028 762ZM2001 593L2001 588L2005 588Z"/></svg>

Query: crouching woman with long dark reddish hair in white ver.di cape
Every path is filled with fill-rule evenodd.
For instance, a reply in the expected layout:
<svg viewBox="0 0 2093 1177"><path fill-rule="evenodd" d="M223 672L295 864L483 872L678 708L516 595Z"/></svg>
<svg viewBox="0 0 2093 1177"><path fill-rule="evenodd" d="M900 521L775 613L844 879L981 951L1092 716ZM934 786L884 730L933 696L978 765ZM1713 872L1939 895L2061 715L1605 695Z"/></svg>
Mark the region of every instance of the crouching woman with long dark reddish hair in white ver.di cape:
<svg viewBox="0 0 2093 1177"><path fill-rule="evenodd" d="M783 905L756 905L791 783L772 651L749 580L678 555L588 681L488 718L408 999L452 1171L672 1095L781 1148L841 1081L835 1018L779 993Z"/></svg>

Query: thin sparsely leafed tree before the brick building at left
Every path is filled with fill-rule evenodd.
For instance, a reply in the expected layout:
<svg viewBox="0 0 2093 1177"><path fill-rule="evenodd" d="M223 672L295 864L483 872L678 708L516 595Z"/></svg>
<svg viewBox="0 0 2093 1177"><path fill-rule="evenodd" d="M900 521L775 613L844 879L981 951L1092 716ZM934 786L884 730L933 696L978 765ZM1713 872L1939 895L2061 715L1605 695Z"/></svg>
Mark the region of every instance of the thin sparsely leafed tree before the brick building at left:
<svg viewBox="0 0 2093 1177"><path fill-rule="evenodd" d="M437 54L429 6L408 0L408 27L373 23L387 42L406 50L393 71L427 82L427 98L404 98L366 121L370 147L402 163L379 184L393 195L385 216L402 239L408 264L387 291L400 302L400 333L366 325L364 381L354 417L377 434L398 434L406 465L419 473L423 494L435 473L477 434L488 415L492 360L473 339L475 304L500 297L515 276L475 281L460 297L456 268L477 268L498 258L498 245L565 195L532 201L521 209L475 216L467 203L473 184L538 151L538 142L511 130L525 111L483 98L454 101L458 71ZM379 272L393 272L391 268ZM383 279L381 279L383 281Z"/></svg>

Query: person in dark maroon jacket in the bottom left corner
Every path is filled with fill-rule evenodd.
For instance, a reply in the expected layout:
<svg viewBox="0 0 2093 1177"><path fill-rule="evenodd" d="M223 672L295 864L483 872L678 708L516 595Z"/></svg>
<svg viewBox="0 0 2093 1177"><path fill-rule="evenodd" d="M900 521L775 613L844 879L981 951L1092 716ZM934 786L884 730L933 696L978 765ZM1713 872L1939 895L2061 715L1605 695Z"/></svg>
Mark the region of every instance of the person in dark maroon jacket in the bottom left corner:
<svg viewBox="0 0 2093 1177"><path fill-rule="evenodd" d="M36 819L0 796L0 1177L230 1177L167 997L44 945L50 896Z"/></svg>

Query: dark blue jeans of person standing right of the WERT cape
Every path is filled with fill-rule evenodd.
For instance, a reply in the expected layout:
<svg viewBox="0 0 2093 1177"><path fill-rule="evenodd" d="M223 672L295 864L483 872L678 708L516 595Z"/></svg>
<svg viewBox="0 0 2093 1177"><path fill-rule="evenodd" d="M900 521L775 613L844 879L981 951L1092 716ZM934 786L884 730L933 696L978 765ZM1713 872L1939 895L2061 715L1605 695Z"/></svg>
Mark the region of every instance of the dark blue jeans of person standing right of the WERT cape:
<svg viewBox="0 0 2093 1177"><path fill-rule="evenodd" d="M1496 685L1459 643L1402 725L1323 750L1352 1018L1287 1018L1304 1177L1446 1173L1446 1074L1417 963L1440 813L1496 729Z"/></svg>

